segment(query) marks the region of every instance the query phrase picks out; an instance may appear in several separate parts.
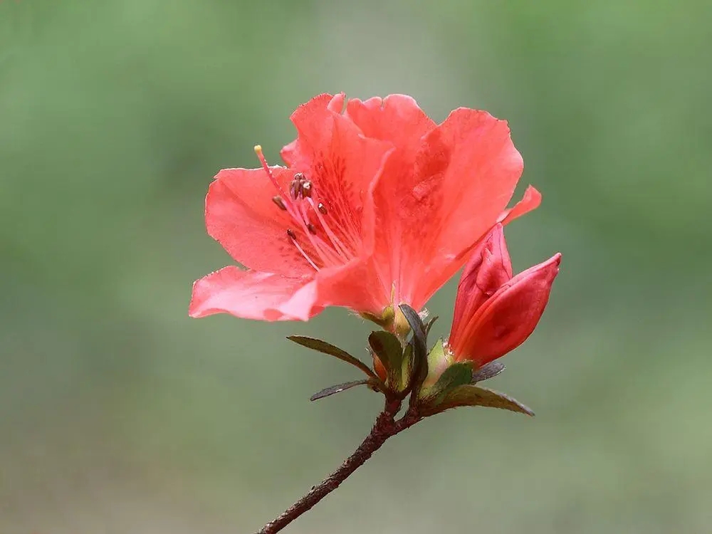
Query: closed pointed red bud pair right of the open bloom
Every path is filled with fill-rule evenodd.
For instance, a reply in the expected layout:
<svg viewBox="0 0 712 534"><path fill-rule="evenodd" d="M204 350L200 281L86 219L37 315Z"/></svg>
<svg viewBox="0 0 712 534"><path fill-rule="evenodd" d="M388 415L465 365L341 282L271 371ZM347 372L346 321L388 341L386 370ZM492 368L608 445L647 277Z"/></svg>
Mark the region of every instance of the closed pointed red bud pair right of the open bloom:
<svg viewBox="0 0 712 534"><path fill-rule="evenodd" d="M512 276L501 224L482 240L457 288L446 359L481 367L521 345L549 300L561 254Z"/></svg>

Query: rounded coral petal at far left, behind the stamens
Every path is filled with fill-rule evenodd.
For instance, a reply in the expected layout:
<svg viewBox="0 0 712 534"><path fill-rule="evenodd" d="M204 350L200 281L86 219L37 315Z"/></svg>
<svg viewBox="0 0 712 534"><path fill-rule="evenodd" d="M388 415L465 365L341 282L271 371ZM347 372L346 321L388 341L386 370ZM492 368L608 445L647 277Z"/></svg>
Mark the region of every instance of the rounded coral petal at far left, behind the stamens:
<svg viewBox="0 0 712 534"><path fill-rule="evenodd" d="M293 172L271 167L283 191ZM278 194L263 169L223 169L205 199L208 234L236 261L255 271L302 276L314 269L287 236L290 218L274 204Z"/></svg>

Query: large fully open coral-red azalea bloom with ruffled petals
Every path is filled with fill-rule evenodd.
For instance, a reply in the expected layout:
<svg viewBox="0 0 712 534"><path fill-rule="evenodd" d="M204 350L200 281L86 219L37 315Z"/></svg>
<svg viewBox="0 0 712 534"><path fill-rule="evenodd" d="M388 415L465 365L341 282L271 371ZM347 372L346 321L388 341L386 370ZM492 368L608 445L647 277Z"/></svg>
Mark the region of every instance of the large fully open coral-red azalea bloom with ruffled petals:
<svg viewBox="0 0 712 534"><path fill-rule="evenodd" d="M492 226L535 209L506 122L460 108L436 125L410 97L320 95L292 115L288 167L224 169L206 197L208 233L246 267L193 286L190 315L307 320L339 305L382 317L416 310Z"/></svg>

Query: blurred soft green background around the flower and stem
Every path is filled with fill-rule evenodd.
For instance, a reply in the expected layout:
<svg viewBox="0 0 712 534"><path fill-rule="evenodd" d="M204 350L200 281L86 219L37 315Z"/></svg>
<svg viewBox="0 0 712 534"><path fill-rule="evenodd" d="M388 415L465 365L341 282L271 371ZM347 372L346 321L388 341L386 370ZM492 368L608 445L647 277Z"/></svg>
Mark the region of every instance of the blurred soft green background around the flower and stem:
<svg viewBox="0 0 712 534"><path fill-rule="evenodd" d="M230 262L222 167L293 139L321 92L510 121L515 269L563 253L540 328L459 409L389 441L290 533L712 531L707 1L0 2L0 533L248 533L381 407L345 310L190 320ZM446 335L454 283L431 300Z"/></svg>

